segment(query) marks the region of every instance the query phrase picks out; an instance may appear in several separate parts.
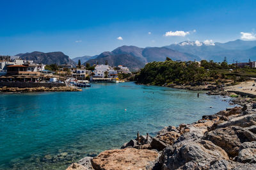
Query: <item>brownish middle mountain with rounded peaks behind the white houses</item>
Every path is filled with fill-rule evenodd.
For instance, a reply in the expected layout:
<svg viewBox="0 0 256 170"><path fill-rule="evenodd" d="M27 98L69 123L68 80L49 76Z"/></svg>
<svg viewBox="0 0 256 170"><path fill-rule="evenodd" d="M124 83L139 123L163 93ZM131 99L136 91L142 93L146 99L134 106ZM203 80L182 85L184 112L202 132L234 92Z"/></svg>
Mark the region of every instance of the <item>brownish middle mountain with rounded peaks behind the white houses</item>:
<svg viewBox="0 0 256 170"><path fill-rule="evenodd" d="M166 57L173 60L200 60L198 56L172 50L167 47L147 47L140 48L136 46L118 47L111 52L102 52L97 58L89 59L84 63L93 64L105 64L108 61L109 65L118 66L125 65L131 70L138 70L142 68L146 63L152 61L164 61Z"/></svg>

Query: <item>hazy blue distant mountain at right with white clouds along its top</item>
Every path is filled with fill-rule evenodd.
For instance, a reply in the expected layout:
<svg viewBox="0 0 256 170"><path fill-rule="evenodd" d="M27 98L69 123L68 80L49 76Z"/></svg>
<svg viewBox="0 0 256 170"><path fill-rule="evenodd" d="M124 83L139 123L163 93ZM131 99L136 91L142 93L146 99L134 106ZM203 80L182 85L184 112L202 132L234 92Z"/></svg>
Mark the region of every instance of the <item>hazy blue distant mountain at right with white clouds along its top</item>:
<svg viewBox="0 0 256 170"><path fill-rule="evenodd" d="M246 62L248 59L256 60L256 41L235 40L227 43L186 41L165 47L180 52L188 52L207 60L223 61L224 57L227 58L228 63Z"/></svg>

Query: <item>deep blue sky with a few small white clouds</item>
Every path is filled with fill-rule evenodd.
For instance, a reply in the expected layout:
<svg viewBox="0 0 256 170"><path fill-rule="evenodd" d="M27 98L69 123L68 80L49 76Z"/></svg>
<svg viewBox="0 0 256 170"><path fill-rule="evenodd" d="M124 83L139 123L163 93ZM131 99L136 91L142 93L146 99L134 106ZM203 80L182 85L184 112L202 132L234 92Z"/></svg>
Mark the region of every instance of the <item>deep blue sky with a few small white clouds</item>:
<svg viewBox="0 0 256 170"><path fill-rule="evenodd" d="M0 1L0 54L256 40L256 1ZM178 31L178 32L176 32ZM242 33L241 33L242 32ZM118 38L119 37L119 38Z"/></svg>

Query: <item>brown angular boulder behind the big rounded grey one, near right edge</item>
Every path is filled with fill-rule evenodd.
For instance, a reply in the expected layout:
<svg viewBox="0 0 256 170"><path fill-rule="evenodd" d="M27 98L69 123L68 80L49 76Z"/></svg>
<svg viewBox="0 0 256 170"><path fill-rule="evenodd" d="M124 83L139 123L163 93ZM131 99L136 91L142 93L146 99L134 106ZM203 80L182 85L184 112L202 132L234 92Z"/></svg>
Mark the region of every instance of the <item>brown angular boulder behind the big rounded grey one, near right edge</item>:
<svg viewBox="0 0 256 170"><path fill-rule="evenodd" d="M245 128L232 126L207 132L204 139L220 146L231 157L236 157L241 143L256 141L256 135Z"/></svg>

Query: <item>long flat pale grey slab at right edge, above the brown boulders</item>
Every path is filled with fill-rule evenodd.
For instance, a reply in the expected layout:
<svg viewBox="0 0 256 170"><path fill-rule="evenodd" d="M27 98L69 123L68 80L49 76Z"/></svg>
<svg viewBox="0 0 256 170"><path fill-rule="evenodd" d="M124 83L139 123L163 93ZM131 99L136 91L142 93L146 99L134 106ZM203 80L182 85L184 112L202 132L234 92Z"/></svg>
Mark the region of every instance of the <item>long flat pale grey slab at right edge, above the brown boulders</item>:
<svg viewBox="0 0 256 170"><path fill-rule="evenodd" d="M247 115L239 116L237 118L232 118L231 120L220 123L217 125L217 128L225 128L230 126L250 127L253 125L256 125L256 114L247 114Z"/></svg>

